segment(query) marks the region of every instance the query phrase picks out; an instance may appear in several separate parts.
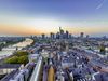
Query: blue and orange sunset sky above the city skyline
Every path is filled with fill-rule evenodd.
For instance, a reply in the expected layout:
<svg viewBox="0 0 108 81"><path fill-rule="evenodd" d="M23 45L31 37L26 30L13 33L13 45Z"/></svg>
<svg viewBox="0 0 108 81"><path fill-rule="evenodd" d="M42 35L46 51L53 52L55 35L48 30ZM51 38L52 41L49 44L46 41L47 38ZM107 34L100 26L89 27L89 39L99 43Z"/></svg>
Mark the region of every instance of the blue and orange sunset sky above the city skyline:
<svg viewBox="0 0 108 81"><path fill-rule="evenodd" d="M108 0L0 0L0 36L108 36Z"/></svg>

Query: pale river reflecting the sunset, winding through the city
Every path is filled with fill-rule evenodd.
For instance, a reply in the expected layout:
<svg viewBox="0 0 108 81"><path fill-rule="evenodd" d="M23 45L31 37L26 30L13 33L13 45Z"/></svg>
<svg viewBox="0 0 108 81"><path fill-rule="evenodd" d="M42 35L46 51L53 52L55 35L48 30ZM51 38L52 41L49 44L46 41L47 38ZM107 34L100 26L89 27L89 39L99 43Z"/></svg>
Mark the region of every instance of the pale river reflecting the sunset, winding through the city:
<svg viewBox="0 0 108 81"><path fill-rule="evenodd" d="M18 50L22 50L23 48L30 45L32 42L32 39L26 38L26 40L23 42L18 42L16 44L9 45L8 48L3 48L2 51L0 51L0 59L12 55L13 52L16 50L16 46L18 46Z"/></svg>

